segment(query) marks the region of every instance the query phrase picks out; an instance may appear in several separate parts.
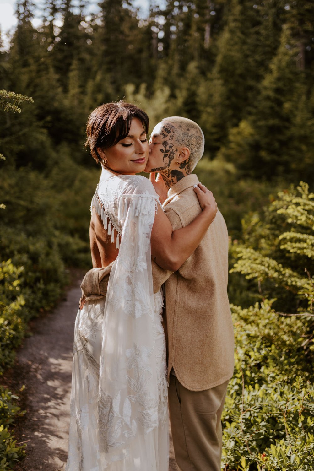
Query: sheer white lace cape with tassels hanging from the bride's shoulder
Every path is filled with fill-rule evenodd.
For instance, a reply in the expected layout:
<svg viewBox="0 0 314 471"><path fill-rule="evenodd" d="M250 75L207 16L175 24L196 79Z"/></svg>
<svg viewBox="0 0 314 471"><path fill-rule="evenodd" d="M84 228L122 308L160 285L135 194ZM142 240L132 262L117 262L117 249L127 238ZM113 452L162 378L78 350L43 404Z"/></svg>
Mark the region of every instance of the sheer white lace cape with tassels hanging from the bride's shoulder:
<svg viewBox="0 0 314 471"><path fill-rule="evenodd" d="M128 456L138 434L158 427L150 235L159 200L148 179L129 175L102 181L97 200L118 244L121 235L108 284L99 376L99 444L110 463Z"/></svg>

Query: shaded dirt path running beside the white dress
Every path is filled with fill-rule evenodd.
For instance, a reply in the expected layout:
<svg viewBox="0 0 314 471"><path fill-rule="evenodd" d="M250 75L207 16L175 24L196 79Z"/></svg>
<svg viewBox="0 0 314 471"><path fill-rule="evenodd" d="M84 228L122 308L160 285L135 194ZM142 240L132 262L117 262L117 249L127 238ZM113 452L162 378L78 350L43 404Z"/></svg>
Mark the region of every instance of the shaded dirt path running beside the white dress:
<svg viewBox="0 0 314 471"><path fill-rule="evenodd" d="M27 443L27 455L15 471L61 471L67 458L70 392L72 374L73 328L80 281L45 317L32 325L32 336L17 352L16 365L4 382L15 390L25 385L17 442ZM171 441L171 436L170 436ZM145 471L145 470L143 470ZM170 447L169 471L179 471Z"/></svg>

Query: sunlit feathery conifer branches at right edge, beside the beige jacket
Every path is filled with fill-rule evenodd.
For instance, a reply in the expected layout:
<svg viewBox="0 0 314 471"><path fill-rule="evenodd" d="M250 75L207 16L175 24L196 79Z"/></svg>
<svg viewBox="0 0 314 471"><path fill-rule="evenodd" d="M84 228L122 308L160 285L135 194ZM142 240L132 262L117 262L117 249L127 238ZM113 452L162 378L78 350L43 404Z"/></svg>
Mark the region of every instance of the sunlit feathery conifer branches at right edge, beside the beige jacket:
<svg viewBox="0 0 314 471"><path fill-rule="evenodd" d="M262 215L243 218L242 227L243 242L231 248L237 258L231 271L257 280L261 297L276 298L278 311L312 309L314 194L308 185L280 192Z"/></svg>

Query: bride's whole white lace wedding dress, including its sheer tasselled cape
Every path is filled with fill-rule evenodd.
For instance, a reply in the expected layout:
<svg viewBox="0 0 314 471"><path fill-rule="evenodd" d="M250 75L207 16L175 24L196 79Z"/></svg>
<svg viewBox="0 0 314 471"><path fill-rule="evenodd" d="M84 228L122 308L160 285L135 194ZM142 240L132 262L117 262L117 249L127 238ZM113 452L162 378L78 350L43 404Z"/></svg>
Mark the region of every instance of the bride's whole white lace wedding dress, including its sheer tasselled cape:
<svg viewBox="0 0 314 471"><path fill-rule="evenodd" d="M162 294L153 295L150 235L159 203L141 176L102 176L92 207L117 233L106 300L74 329L67 471L168 471ZM121 242L120 242L121 240Z"/></svg>

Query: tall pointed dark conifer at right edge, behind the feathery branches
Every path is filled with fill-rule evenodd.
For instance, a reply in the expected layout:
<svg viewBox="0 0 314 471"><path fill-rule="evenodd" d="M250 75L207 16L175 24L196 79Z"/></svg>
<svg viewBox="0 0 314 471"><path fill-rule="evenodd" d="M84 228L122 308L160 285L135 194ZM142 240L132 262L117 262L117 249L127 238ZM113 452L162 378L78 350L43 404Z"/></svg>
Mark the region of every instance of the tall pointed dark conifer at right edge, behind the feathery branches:
<svg viewBox="0 0 314 471"><path fill-rule="evenodd" d="M230 131L229 142L220 152L246 175L277 175L292 180L305 173L313 175L309 165L313 115L306 104L304 76L295 57L296 49L285 28L249 117ZM297 125L300 122L302 125Z"/></svg>

